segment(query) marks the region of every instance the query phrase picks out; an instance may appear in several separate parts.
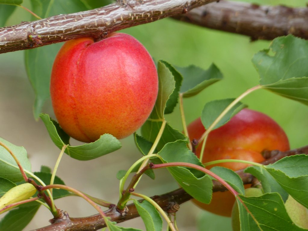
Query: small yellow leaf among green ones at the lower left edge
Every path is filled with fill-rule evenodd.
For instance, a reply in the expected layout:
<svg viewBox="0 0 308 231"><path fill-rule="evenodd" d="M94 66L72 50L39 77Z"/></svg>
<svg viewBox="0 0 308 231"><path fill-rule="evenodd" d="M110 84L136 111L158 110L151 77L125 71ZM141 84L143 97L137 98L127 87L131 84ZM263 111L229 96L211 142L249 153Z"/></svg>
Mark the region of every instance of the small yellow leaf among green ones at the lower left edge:
<svg viewBox="0 0 308 231"><path fill-rule="evenodd" d="M35 193L36 193L36 188L32 184L30 183L19 184L14 188L11 188L0 198L0 209L3 209L7 205L29 199ZM16 206L5 209L2 212L0 212L0 214L15 207Z"/></svg>

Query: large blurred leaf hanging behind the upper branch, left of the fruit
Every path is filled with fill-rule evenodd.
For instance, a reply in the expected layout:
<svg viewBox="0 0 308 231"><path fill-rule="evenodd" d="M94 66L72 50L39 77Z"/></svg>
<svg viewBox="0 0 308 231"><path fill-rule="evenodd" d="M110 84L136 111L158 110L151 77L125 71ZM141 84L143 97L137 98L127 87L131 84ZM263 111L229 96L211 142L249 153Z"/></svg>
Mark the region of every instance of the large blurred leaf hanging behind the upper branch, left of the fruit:
<svg viewBox="0 0 308 231"><path fill-rule="evenodd" d="M79 0L31 0L31 4L32 11L41 18L87 10L87 7ZM33 16L32 19L34 20L36 18ZM26 71L35 93L33 107L35 119L38 119L45 101L50 98L49 85L51 68L60 47L61 44L57 43L25 51Z"/></svg>

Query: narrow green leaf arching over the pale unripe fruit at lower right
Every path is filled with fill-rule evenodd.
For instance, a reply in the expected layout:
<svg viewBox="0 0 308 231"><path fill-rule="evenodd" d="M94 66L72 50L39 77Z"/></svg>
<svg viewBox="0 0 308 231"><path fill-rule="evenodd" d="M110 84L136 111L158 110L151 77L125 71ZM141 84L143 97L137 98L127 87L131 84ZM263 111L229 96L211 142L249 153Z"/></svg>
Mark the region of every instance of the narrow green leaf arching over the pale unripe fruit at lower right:
<svg viewBox="0 0 308 231"><path fill-rule="evenodd" d="M285 202L288 199L289 194L284 190L280 184L270 175L264 168L259 166L250 166L244 170L244 172L250 173L262 184L264 193L279 193L282 200Z"/></svg>

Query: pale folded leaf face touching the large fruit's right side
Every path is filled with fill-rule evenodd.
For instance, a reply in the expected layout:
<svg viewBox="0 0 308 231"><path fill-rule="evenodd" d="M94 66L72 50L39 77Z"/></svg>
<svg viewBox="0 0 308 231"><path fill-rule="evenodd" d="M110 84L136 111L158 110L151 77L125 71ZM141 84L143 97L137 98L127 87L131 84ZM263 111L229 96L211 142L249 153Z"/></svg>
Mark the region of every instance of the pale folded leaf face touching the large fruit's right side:
<svg viewBox="0 0 308 231"><path fill-rule="evenodd" d="M158 61L158 94L150 119L163 120L167 101L176 87L176 81L164 61Z"/></svg>

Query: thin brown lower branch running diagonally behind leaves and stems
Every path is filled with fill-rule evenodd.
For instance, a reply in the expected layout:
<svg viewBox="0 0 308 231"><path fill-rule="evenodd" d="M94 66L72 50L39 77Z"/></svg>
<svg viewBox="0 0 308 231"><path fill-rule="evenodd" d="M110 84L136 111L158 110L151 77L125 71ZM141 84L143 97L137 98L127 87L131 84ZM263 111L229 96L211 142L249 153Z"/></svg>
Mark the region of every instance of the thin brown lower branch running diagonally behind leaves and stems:
<svg viewBox="0 0 308 231"><path fill-rule="evenodd" d="M265 156L270 156L269 159L265 160L261 164L272 164L277 160L282 159L285 156L292 156L296 154L306 154L308 155L308 146L293 149L286 152L280 152L277 150L267 151ZM242 170L236 171L241 177L244 184L251 184L253 181L253 176L249 173L245 173ZM218 181L213 181L213 192L225 191L226 188ZM165 193L160 196L151 197L164 211L177 211L178 205L189 201L192 197L184 191L184 189L179 188L170 193ZM142 200L140 200L142 201ZM176 208L176 209L174 209ZM137 209L134 204L127 205L127 209L123 213L119 213L114 206L104 212L107 217L111 218L111 221L117 223L131 220L133 218L139 217ZM80 218L70 218L66 212L63 212L63 218L53 221L54 223L48 225L44 228L34 229L32 231L95 231L105 227L105 223L99 214L90 217L80 217Z"/></svg>

